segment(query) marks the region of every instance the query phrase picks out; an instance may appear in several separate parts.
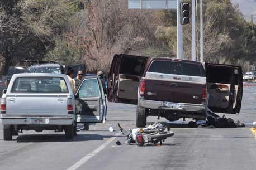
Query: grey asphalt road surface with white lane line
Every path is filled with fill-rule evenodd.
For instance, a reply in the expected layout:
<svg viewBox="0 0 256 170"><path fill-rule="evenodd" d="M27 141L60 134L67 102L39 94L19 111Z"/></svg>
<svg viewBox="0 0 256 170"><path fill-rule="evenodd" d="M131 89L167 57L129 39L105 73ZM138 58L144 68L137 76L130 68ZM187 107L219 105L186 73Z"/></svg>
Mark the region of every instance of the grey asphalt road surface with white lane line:
<svg viewBox="0 0 256 170"><path fill-rule="evenodd" d="M135 105L108 103L106 123L90 125L74 140L65 140L64 133L29 131L5 142L1 127L0 169L256 169L256 139L250 130L256 121L255 101L256 86L245 86L241 113L226 115L244 122L245 128L196 129L181 120L162 146L125 145L118 130L108 132L117 123L134 128Z"/></svg>

